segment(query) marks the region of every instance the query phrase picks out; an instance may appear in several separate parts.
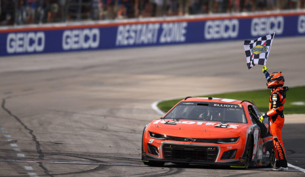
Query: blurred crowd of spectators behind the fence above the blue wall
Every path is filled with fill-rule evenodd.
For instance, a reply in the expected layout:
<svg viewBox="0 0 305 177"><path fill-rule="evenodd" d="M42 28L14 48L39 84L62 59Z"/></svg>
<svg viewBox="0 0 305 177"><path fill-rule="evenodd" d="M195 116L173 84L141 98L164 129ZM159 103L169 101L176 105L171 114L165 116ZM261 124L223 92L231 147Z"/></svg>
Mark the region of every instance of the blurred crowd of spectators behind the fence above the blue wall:
<svg viewBox="0 0 305 177"><path fill-rule="evenodd" d="M0 0L1 25L304 9L305 0Z"/></svg>

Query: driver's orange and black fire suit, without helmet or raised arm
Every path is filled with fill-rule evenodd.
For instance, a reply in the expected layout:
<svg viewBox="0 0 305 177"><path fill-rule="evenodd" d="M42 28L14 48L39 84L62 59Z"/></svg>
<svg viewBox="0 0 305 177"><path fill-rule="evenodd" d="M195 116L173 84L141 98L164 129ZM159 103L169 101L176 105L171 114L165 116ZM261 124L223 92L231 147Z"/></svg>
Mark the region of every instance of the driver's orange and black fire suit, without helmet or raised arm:
<svg viewBox="0 0 305 177"><path fill-rule="evenodd" d="M270 119L270 131L273 136L273 147L277 167L287 167L285 148L282 140L282 128L284 126L283 107L286 100L288 87L275 88L270 95L269 111L267 116Z"/></svg>

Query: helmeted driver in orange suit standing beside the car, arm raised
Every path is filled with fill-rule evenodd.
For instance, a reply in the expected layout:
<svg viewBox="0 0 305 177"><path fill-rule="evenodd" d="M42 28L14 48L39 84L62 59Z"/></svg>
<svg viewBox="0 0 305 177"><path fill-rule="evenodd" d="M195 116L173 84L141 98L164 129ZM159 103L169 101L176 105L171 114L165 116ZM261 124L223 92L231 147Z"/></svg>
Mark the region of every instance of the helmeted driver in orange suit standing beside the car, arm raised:
<svg viewBox="0 0 305 177"><path fill-rule="evenodd" d="M260 116L260 122L262 123L264 118L269 117L270 131L273 136L273 147L276 158L275 167L273 167L272 170L287 171L288 166L282 140L282 128L285 120L283 107L288 87L283 87L285 79L281 72L274 72L270 75L266 65L263 68L263 72L267 79L267 87L271 88L272 92L269 99L269 111Z"/></svg>

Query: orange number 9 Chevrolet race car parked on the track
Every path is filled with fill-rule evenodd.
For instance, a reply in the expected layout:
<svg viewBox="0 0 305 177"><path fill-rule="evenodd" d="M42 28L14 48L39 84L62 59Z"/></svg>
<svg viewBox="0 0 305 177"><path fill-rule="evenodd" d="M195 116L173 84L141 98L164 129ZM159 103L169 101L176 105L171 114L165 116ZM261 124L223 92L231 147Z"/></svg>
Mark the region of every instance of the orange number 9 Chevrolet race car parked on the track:
<svg viewBox="0 0 305 177"><path fill-rule="evenodd" d="M269 120L260 116L249 101L187 97L144 127L142 161L272 168Z"/></svg>

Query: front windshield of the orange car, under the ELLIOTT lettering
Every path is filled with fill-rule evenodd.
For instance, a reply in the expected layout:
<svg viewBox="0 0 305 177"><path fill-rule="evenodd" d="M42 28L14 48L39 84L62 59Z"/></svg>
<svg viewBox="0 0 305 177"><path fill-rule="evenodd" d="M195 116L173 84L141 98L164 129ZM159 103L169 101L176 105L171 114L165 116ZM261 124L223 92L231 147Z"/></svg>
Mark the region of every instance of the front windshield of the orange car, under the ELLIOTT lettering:
<svg viewBox="0 0 305 177"><path fill-rule="evenodd" d="M180 102L164 118L248 123L242 105L217 102Z"/></svg>

